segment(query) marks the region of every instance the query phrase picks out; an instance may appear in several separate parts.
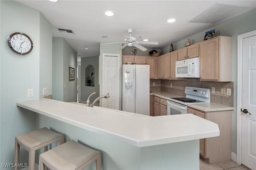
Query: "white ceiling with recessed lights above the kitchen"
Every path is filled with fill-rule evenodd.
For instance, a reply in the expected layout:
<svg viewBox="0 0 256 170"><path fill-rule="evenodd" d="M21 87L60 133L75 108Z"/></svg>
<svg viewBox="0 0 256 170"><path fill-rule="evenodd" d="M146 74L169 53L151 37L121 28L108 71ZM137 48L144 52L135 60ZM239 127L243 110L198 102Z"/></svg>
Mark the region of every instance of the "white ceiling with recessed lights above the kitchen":
<svg viewBox="0 0 256 170"><path fill-rule="evenodd" d="M55 3L48 0L17 1L40 10L52 24L53 36L65 38L81 57L98 56L100 42L123 42L123 36L129 36L129 28L134 29L132 36L137 40L159 42L159 45L143 45L144 47L166 47L220 24L189 22L217 2L248 6L243 12L226 20L256 8L255 0L58 0ZM104 12L108 10L114 12L114 16L105 16ZM166 22L169 18L175 18L176 22ZM73 30L75 35L61 34L56 28ZM85 45L90 49L85 50Z"/></svg>

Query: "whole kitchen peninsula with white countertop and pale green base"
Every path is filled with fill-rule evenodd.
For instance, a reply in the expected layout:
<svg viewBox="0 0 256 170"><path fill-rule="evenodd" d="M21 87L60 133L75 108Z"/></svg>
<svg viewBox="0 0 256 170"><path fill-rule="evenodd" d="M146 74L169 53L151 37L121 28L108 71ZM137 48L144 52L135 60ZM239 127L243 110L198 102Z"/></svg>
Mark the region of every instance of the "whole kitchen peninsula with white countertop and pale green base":
<svg viewBox="0 0 256 170"><path fill-rule="evenodd" d="M220 134L217 124L193 114L150 117L44 98L17 106L48 117L48 128L63 134L78 127L83 136L75 138L102 152L104 170L198 170L199 139Z"/></svg>

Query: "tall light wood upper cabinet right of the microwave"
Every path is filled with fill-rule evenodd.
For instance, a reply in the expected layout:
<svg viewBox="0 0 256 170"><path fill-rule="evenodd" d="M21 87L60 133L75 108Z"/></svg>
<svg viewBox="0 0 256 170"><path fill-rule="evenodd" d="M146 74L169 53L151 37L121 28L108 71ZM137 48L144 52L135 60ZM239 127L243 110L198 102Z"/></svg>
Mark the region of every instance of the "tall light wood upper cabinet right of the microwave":
<svg viewBox="0 0 256 170"><path fill-rule="evenodd" d="M232 38L218 36L200 43L200 80L232 81Z"/></svg>

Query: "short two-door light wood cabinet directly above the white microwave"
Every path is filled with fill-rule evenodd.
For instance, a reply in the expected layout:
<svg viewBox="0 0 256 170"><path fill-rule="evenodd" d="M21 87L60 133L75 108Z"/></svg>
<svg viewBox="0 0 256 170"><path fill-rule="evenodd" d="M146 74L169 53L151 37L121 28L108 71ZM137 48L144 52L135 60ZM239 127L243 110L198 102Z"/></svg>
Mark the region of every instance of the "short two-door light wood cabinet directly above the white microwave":
<svg viewBox="0 0 256 170"><path fill-rule="evenodd" d="M199 43L178 50L178 60L199 57Z"/></svg>

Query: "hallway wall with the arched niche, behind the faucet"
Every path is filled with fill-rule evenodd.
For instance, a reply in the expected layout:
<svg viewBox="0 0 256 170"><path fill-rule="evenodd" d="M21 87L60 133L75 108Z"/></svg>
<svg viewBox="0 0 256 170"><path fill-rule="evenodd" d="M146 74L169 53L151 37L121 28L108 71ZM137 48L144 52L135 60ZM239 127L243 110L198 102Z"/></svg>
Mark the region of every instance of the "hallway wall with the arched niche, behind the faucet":
<svg viewBox="0 0 256 170"><path fill-rule="evenodd" d="M85 69L88 65L92 65L94 67L94 87L85 86ZM96 92L96 94L90 97L90 101L93 102L97 97L100 96L100 85L99 85L99 57L82 57L81 58L81 101L87 101L90 94Z"/></svg>

